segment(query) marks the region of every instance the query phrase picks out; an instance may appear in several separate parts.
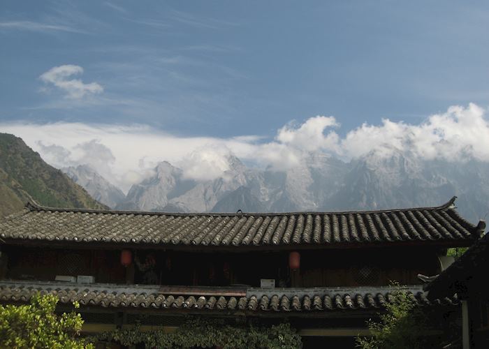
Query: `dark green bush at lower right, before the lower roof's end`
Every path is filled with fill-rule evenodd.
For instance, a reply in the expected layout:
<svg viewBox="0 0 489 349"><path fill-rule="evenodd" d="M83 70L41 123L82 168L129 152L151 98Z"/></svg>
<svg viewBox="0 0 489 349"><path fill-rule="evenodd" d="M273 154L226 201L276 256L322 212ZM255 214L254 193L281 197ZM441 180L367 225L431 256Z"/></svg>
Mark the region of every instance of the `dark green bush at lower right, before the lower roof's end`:
<svg viewBox="0 0 489 349"><path fill-rule="evenodd" d="M430 348L426 333L428 321L423 311L416 306L411 294L398 283L392 303L387 303L386 313L379 315L379 322L369 320L372 336L358 336L357 347L362 349L417 349Z"/></svg>

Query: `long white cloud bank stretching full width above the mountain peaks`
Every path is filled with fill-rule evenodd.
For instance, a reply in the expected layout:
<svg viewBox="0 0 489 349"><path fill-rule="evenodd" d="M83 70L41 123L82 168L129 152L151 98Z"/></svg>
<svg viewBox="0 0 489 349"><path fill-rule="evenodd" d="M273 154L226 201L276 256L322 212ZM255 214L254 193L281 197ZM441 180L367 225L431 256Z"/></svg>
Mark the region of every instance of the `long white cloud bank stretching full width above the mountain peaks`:
<svg viewBox="0 0 489 349"><path fill-rule="evenodd" d="M487 110L471 103L449 107L421 124L384 119L379 125L363 124L343 137L336 132L340 124L335 117L317 116L279 128L268 141L256 135L176 137L148 126L16 123L0 124L0 129L23 138L54 166L87 163L127 191L163 160L178 165L189 179L221 177L230 169L230 154L275 170L298 166L310 153L348 160L370 151L389 156L393 149L426 160L489 161L486 114Z"/></svg>

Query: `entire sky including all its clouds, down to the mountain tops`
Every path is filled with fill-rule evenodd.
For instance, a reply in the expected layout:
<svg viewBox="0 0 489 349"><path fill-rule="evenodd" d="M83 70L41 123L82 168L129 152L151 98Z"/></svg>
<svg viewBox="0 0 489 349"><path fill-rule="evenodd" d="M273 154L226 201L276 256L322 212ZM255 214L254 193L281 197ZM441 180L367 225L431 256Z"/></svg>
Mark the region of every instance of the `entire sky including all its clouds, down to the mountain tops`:
<svg viewBox="0 0 489 349"><path fill-rule="evenodd" d="M489 161L487 1L3 0L0 43L0 131L124 190L230 153Z"/></svg>

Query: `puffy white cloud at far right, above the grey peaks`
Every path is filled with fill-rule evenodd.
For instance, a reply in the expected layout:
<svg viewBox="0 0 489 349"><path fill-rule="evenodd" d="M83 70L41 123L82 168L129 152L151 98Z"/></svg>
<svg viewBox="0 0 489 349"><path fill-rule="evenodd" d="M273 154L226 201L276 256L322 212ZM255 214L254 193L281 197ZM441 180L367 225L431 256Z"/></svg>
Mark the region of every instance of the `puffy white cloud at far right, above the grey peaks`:
<svg viewBox="0 0 489 349"><path fill-rule="evenodd" d="M358 157L372 150L399 149L427 160L443 158L463 161L475 158L489 161L489 122L486 110L470 103L449 107L433 114L419 125L384 119L380 126L363 124L341 141L342 153Z"/></svg>

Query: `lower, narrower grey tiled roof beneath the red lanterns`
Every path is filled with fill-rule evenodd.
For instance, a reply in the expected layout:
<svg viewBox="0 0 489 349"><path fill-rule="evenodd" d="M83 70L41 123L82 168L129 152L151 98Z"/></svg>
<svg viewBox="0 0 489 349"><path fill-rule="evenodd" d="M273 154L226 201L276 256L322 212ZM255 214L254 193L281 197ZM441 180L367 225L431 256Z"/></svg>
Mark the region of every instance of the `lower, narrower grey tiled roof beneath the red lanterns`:
<svg viewBox="0 0 489 349"><path fill-rule="evenodd" d="M28 281L0 281L0 302L29 302L36 294L53 294L60 302L71 304L75 301L81 306L102 306L105 308L147 308L147 309L187 309L189 311L258 311L283 313L330 312L344 310L381 309L386 302L393 301L389 288L377 290L357 288L345 292L322 292L304 289L295 295L281 290L254 290L253 294L242 297L227 295L185 295L162 294L158 286L128 285L74 285L69 283L38 283ZM275 293L275 291L277 291ZM289 295L283 294L289 293ZM421 290L409 292L411 299L420 306L453 305L458 299L442 299L430 302Z"/></svg>

